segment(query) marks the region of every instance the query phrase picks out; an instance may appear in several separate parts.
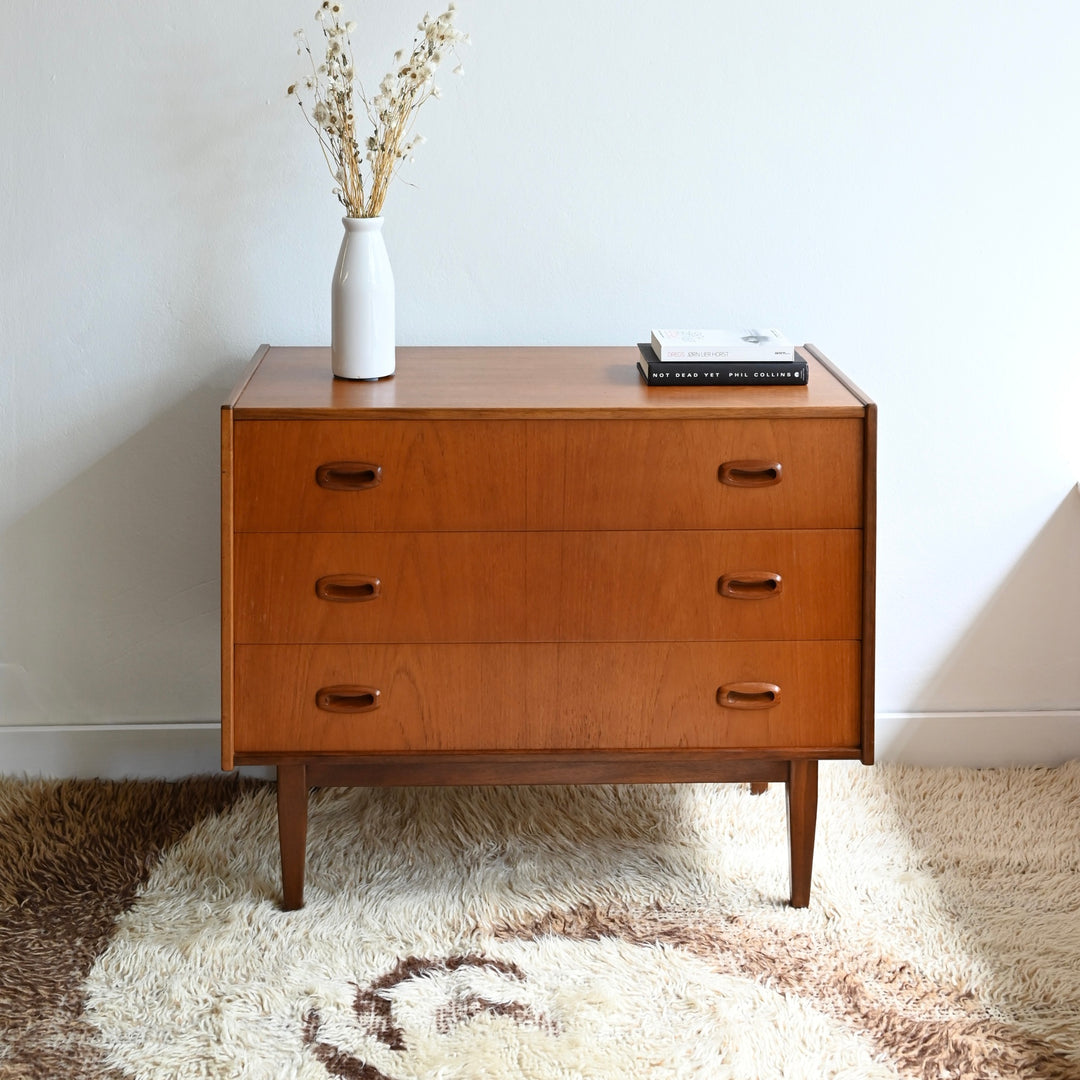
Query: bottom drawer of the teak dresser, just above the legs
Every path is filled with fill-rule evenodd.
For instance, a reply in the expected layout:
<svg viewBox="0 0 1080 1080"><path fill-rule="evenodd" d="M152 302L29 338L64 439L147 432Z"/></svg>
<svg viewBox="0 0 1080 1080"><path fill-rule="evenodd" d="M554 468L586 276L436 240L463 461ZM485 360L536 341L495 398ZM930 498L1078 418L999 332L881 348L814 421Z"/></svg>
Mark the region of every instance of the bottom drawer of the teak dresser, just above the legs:
<svg viewBox="0 0 1080 1080"><path fill-rule="evenodd" d="M855 750L858 642L241 645L238 754Z"/></svg>

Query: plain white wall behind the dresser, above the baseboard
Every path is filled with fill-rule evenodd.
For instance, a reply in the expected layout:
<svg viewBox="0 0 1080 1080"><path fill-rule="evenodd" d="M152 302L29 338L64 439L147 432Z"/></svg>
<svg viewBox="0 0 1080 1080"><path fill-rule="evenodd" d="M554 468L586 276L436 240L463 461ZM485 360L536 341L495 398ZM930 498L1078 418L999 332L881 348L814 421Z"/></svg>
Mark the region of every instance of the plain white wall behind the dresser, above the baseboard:
<svg viewBox="0 0 1080 1080"><path fill-rule="evenodd" d="M421 11L367 8L375 82ZM0 725L19 745L217 715L217 406L260 341L329 333L340 215L284 95L313 9L6 21ZM465 78L442 80L386 211L400 342L757 322L813 341L880 405L891 744L917 756L927 717L973 714L961 758L1001 732L1038 755L1035 715L1061 720L1047 755L1080 753L1080 5L462 0L459 23ZM33 767L4 745L0 770Z"/></svg>

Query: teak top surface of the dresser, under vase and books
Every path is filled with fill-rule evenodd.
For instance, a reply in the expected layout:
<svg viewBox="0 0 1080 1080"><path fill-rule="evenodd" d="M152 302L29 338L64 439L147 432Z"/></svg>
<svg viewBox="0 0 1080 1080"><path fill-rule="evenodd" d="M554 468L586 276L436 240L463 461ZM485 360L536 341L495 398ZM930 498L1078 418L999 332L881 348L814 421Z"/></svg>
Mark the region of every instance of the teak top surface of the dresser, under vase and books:
<svg viewBox="0 0 1080 1080"><path fill-rule="evenodd" d="M262 348L226 403L238 419L861 417L868 400L812 346L804 387L649 387L634 347L399 348L393 376L335 379L328 348Z"/></svg>

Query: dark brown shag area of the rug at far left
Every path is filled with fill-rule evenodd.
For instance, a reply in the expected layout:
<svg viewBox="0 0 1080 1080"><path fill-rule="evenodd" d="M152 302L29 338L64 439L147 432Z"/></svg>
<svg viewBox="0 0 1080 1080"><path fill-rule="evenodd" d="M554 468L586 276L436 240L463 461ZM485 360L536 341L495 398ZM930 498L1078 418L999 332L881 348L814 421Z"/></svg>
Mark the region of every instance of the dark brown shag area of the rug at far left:
<svg viewBox="0 0 1080 1080"><path fill-rule="evenodd" d="M252 785L0 779L0 1078L124 1080L81 984L158 856Z"/></svg>

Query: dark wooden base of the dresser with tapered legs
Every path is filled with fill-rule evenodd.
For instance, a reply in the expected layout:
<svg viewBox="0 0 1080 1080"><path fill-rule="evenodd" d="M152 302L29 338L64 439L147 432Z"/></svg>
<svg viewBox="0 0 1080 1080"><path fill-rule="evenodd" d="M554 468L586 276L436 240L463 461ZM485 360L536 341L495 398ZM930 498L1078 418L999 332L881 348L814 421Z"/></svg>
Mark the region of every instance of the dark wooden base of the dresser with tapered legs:
<svg viewBox="0 0 1080 1080"><path fill-rule="evenodd" d="M823 757L850 757L836 751ZM278 831L282 908L303 906L310 787L394 787L453 784L748 783L760 794L783 783L787 794L791 905L810 903L818 818L818 759L724 757L702 751L603 754L380 754L363 758L240 755L239 764L278 767Z"/></svg>

